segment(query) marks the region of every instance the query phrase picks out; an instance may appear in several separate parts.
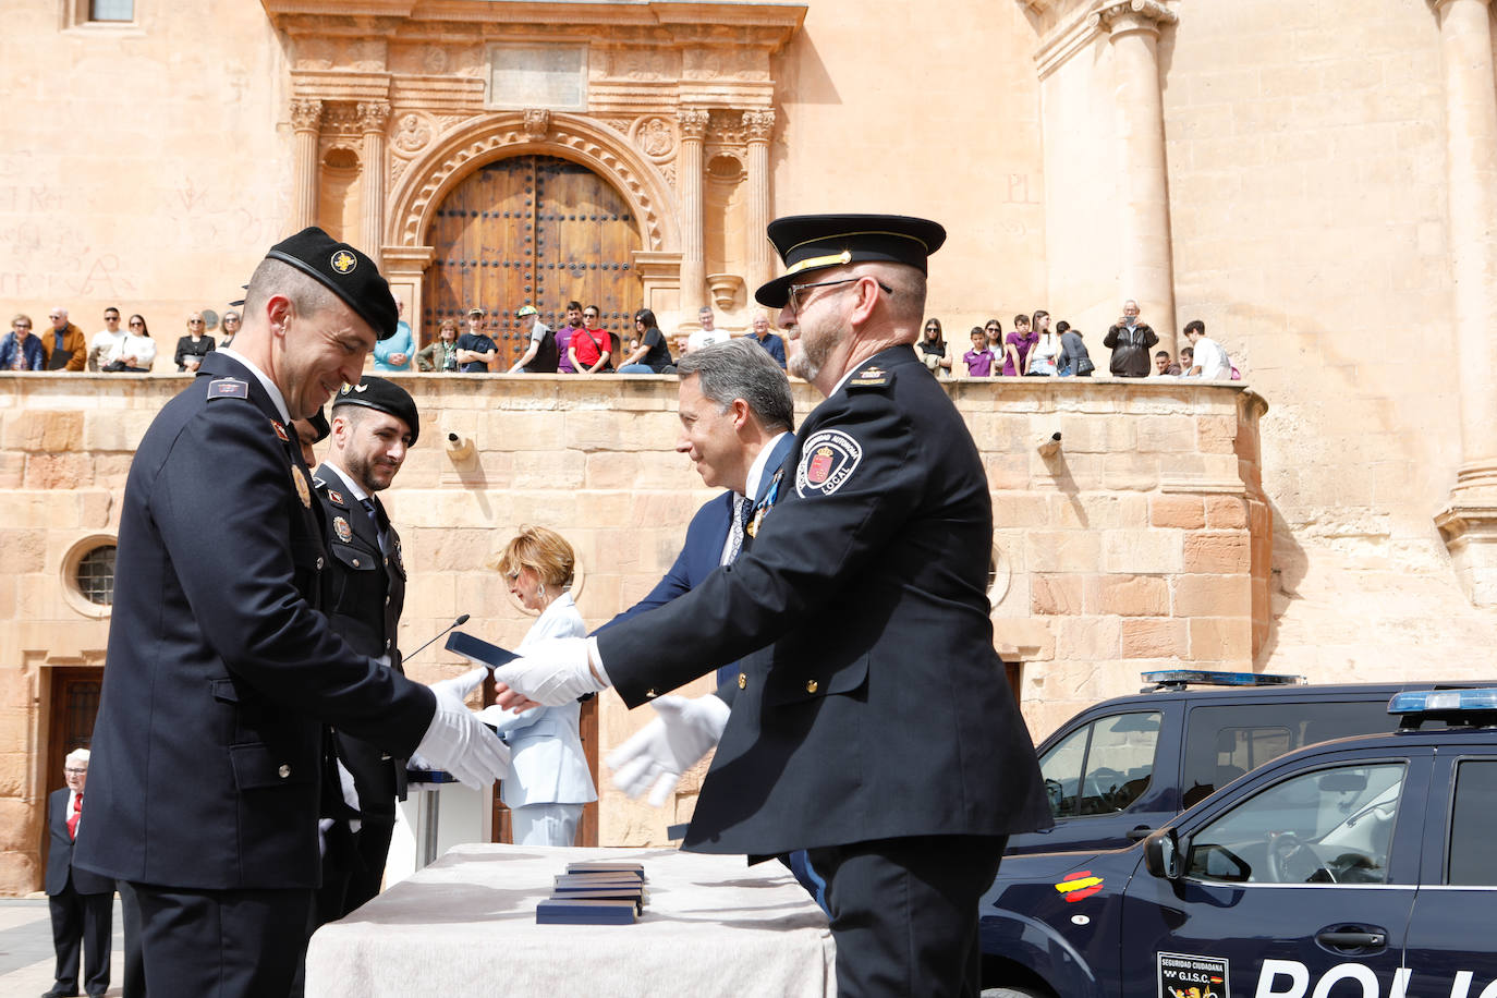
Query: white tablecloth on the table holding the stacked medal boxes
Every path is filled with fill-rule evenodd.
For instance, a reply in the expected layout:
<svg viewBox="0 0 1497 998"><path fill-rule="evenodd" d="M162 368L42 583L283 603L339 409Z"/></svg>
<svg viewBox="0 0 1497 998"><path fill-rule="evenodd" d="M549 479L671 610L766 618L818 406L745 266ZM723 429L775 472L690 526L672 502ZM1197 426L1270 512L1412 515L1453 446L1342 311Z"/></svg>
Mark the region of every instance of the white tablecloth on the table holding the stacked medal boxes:
<svg viewBox="0 0 1497 998"><path fill-rule="evenodd" d="M536 925L552 877L644 863L635 925ZM834 995L826 916L777 862L674 848L458 845L307 952L307 997Z"/></svg>

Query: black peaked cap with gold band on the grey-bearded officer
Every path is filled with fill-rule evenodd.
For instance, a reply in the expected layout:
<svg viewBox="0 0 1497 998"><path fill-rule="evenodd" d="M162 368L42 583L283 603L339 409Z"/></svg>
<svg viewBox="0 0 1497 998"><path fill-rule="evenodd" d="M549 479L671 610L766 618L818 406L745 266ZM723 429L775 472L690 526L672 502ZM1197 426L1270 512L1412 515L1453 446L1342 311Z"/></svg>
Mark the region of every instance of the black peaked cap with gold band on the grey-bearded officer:
<svg viewBox="0 0 1497 998"><path fill-rule="evenodd" d="M786 272L754 292L754 301L784 308L790 284L808 271L864 260L904 263L925 274L925 259L946 241L946 229L909 215L787 215L769 223L769 242Z"/></svg>

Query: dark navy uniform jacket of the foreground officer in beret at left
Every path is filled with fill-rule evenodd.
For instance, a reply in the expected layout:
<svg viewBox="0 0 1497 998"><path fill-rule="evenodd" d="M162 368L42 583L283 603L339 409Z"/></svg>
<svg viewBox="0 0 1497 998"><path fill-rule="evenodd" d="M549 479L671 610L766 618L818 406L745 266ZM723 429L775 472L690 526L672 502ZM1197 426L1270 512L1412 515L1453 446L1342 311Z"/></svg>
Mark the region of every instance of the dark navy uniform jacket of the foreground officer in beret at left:
<svg viewBox="0 0 1497 998"><path fill-rule="evenodd" d="M434 711L316 612L326 557L295 431L247 367L210 353L126 480L78 865L184 889L317 884L322 724L407 756Z"/></svg>

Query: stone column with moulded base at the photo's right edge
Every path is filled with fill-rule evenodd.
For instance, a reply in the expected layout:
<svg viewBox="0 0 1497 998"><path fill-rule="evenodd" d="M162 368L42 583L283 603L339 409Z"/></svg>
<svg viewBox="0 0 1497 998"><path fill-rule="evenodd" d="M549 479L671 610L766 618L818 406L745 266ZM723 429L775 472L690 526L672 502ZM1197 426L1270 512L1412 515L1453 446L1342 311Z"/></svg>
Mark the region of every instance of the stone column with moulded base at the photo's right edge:
<svg viewBox="0 0 1497 998"><path fill-rule="evenodd" d="M1491 0L1433 0L1445 67L1452 326L1476 356L1457 365L1461 467L1436 518L1452 564L1478 606L1497 606L1497 82Z"/></svg>

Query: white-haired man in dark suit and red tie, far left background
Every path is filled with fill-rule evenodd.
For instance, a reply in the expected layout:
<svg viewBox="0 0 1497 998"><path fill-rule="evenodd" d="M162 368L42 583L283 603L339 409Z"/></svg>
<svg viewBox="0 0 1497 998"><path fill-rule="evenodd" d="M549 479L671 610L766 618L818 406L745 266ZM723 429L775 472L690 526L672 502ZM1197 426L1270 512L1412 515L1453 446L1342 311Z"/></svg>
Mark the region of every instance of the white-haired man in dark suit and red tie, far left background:
<svg viewBox="0 0 1497 998"><path fill-rule="evenodd" d="M52 947L57 950L57 983L42 998L78 994L79 947L87 956L84 989L90 995L109 991L109 932L114 922L114 880L73 866L73 841L82 824L84 784L88 783L88 750L75 748L63 762L67 786L46 802L46 907L52 914Z"/></svg>

